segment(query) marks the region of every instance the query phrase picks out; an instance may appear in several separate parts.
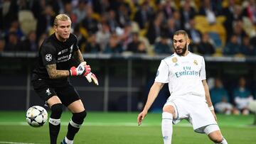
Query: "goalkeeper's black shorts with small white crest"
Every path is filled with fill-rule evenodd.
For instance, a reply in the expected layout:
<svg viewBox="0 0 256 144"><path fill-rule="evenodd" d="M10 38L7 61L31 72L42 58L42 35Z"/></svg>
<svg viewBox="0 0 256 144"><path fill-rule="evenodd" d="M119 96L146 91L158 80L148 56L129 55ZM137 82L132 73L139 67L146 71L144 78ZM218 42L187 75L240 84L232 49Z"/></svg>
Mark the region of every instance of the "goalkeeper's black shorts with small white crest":
<svg viewBox="0 0 256 144"><path fill-rule="evenodd" d="M58 84L56 81L36 78L32 79L31 82L36 93L44 101L47 101L52 96L58 96L62 104L68 106L80 99L78 92L68 81L61 81Z"/></svg>

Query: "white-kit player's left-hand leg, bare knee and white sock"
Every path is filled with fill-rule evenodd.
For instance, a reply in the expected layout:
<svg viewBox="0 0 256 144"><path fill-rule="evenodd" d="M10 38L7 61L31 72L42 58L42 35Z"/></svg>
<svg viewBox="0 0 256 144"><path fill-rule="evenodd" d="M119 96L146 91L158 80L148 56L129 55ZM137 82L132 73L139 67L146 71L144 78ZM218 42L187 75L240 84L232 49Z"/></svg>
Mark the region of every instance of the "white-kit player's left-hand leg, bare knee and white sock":
<svg viewBox="0 0 256 144"><path fill-rule="evenodd" d="M171 136L173 133L173 118L175 117L174 106L166 105L163 108L161 131L164 138L164 144L171 143Z"/></svg>

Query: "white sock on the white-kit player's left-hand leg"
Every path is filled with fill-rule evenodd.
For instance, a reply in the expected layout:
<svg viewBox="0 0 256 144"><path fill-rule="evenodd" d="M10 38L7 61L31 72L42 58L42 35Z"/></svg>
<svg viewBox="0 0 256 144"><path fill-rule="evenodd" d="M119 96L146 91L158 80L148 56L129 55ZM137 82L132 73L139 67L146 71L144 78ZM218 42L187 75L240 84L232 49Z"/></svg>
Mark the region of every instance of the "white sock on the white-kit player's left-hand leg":
<svg viewBox="0 0 256 144"><path fill-rule="evenodd" d="M164 138L164 144L171 144L171 135L172 135L172 120L173 115L168 112L162 113L162 123L161 123L161 131Z"/></svg>

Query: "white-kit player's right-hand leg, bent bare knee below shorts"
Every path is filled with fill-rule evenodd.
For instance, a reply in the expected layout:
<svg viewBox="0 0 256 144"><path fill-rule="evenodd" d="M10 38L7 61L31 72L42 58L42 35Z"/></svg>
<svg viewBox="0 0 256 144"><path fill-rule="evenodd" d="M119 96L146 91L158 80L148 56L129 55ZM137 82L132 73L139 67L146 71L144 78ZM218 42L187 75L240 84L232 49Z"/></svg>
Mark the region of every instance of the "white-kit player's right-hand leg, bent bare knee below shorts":
<svg viewBox="0 0 256 144"><path fill-rule="evenodd" d="M209 125L206 126L204 129L204 132L208 135L210 140L212 140L214 143L219 144L228 144L227 140L223 138L223 135L220 132L220 128L218 125Z"/></svg>

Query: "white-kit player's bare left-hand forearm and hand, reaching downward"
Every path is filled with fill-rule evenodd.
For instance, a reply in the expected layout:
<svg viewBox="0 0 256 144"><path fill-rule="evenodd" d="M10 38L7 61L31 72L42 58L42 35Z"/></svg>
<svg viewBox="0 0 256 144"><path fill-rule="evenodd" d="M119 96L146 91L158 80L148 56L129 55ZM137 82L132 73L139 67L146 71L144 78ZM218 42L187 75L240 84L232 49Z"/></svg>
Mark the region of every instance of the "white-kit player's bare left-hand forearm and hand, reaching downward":
<svg viewBox="0 0 256 144"><path fill-rule="evenodd" d="M151 86L144 109L141 113L139 113L139 115L137 117L137 123L139 126L142 124L142 121L144 120L147 112L149 111L149 108L153 104L154 100L158 96L158 94L163 86L164 86L164 83L160 83L160 82L154 82L154 84Z"/></svg>

